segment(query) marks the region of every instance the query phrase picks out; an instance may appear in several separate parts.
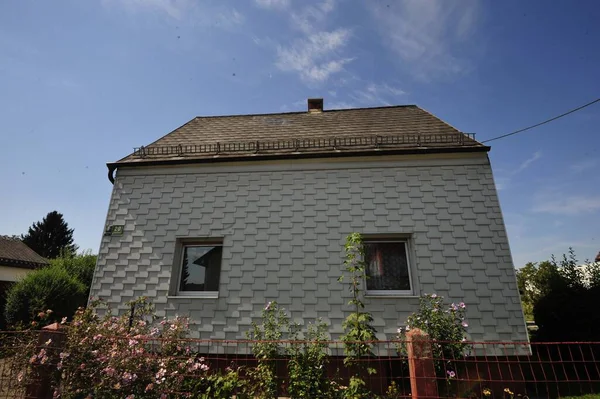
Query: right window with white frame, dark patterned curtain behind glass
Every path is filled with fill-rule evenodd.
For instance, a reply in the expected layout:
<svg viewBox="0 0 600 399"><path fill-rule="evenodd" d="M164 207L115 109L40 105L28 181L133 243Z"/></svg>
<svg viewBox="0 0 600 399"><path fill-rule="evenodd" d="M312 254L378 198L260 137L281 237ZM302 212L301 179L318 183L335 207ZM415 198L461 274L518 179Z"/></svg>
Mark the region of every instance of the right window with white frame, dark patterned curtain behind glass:
<svg viewBox="0 0 600 399"><path fill-rule="evenodd" d="M412 295L406 239L365 239L367 295Z"/></svg>

